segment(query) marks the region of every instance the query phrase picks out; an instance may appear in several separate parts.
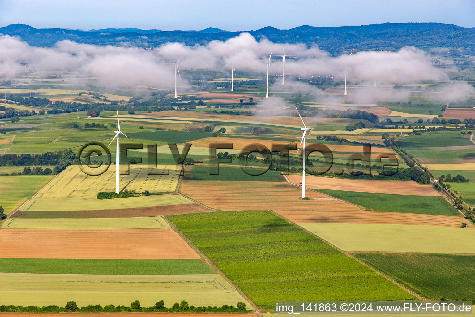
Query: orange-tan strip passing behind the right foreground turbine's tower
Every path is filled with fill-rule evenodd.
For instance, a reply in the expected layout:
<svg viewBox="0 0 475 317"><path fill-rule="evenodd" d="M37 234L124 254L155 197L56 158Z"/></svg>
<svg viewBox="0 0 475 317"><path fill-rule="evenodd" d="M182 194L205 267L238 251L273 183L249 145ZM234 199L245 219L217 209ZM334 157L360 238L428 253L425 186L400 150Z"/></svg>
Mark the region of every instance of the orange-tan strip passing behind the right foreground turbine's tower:
<svg viewBox="0 0 475 317"><path fill-rule="evenodd" d="M301 175L288 175L287 178L294 184L302 183ZM306 176L307 188L333 189L348 192L377 192L381 194L439 196L429 184L419 184L413 181L371 181L332 178L323 176Z"/></svg>

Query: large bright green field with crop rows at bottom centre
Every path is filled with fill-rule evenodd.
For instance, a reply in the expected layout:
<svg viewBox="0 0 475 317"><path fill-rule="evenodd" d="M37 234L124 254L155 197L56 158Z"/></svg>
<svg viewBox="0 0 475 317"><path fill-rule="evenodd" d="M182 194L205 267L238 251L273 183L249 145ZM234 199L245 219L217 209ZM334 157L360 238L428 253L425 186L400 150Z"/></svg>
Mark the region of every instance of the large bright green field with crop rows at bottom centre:
<svg viewBox="0 0 475 317"><path fill-rule="evenodd" d="M279 300L413 298L270 211L168 218L258 306L272 309Z"/></svg>

